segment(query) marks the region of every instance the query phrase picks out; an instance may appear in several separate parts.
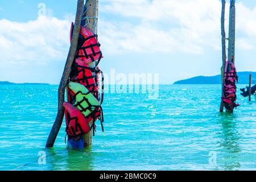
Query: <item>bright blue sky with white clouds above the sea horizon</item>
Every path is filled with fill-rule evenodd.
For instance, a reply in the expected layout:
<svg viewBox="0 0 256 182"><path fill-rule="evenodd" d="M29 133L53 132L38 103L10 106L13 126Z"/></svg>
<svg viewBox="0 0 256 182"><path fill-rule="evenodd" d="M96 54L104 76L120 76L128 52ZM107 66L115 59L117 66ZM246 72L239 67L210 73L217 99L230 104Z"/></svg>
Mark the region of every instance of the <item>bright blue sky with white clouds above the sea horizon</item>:
<svg viewBox="0 0 256 182"><path fill-rule="evenodd" d="M46 5L46 16L38 16L39 3ZM76 3L0 2L1 81L59 83ZM237 0L236 7L236 66L238 71L256 71L256 1ZM218 0L100 0L101 69L106 74L113 68L125 74L159 73L160 84L217 75L220 9Z"/></svg>

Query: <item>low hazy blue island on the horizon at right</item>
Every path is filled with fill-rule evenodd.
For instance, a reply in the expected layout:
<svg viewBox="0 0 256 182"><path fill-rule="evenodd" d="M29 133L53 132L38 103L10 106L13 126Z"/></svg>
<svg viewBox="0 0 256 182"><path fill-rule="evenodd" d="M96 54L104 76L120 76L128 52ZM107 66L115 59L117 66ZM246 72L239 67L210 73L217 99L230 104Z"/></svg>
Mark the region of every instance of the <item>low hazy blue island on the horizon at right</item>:
<svg viewBox="0 0 256 182"><path fill-rule="evenodd" d="M252 83L256 84L256 72L238 72L238 84L249 84L249 75L251 73ZM186 80L174 82L178 84L221 84L221 75L216 76L196 76Z"/></svg>

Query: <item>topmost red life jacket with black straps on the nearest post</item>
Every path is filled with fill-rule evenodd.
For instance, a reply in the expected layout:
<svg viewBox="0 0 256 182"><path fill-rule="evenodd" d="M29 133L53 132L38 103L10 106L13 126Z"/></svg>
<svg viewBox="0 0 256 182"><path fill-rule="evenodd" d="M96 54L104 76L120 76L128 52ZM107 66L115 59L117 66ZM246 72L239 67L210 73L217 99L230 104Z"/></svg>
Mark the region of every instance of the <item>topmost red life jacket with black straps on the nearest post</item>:
<svg viewBox="0 0 256 182"><path fill-rule="evenodd" d="M71 24L70 40L72 40L73 28L74 23ZM98 65L103 56L97 38L98 36L89 28L81 26L75 57L79 57L85 63L97 61L96 65Z"/></svg>

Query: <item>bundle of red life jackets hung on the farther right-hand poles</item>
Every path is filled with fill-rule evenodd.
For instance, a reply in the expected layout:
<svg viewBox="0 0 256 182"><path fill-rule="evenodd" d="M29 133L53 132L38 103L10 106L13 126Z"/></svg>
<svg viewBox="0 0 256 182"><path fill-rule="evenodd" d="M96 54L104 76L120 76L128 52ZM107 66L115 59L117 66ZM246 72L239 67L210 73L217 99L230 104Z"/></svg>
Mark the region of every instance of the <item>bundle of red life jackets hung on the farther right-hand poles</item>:
<svg viewBox="0 0 256 182"><path fill-rule="evenodd" d="M224 72L224 84L223 84L223 93L222 102L226 109L233 110L239 104L236 104L236 81L238 82L238 76L236 67L232 61L226 61L225 72Z"/></svg>

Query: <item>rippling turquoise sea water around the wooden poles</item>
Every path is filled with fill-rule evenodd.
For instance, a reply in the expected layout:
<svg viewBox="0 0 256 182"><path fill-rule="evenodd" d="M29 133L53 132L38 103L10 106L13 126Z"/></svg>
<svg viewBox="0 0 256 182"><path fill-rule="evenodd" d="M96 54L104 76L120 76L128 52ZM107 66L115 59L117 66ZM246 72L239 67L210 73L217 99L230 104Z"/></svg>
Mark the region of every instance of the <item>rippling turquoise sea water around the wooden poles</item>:
<svg viewBox="0 0 256 182"><path fill-rule="evenodd" d="M92 147L67 150L64 124L46 149L57 85L1 85L0 170L256 169L256 102L238 94L238 103L219 113L220 85L160 85L157 100L109 93Z"/></svg>

